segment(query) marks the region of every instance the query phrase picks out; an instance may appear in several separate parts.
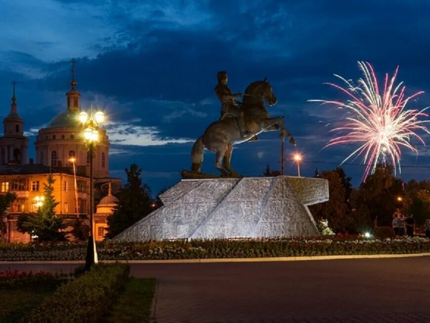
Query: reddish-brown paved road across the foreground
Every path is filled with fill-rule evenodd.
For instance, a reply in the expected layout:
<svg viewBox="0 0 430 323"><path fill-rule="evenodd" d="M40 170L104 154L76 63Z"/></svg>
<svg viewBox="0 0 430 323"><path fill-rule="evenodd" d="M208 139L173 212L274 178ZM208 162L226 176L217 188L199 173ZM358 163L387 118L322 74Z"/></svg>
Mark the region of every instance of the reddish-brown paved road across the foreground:
<svg viewBox="0 0 430 323"><path fill-rule="evenodd" d="M73 267L53 266L32 268ZM430 257L132 265L132 274L157 277L158 323L430 322Z"/></svg>

